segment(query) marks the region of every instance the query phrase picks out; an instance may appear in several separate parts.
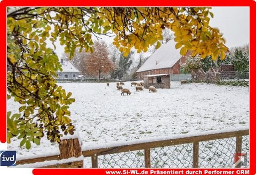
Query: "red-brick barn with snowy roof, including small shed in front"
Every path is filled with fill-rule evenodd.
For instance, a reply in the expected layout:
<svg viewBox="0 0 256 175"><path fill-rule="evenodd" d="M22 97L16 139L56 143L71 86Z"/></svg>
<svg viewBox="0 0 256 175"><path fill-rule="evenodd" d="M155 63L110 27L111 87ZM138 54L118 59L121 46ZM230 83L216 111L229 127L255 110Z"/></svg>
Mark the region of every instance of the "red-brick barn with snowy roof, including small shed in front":
<svg viewBox="0 0 256 175"><path fill-rule="evenodd" d="M174 40L162 44L136 71L138 80L144 80L146 87L170 88L170 74L182 73L181 65L191 53L180 55L175 44Z"/></svg>

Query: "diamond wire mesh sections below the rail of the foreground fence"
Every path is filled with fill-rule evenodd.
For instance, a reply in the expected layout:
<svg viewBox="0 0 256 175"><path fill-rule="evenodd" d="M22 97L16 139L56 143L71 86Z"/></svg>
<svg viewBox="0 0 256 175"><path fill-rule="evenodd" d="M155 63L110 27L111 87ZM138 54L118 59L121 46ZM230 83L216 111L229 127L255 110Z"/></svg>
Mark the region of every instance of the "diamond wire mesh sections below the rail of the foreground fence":
<svg viewBox="0 0 256 175"><path fill-rule="evenodd" d="M234 168L236 138L199 142L199 168ZM242 153L246 153L242 168L249 167L249 136L243 136ZM151 168L192 168L193 144L150 148ZM144 168L144 150L98 156L99 168Z"/></svg>

